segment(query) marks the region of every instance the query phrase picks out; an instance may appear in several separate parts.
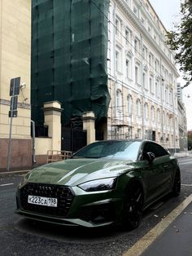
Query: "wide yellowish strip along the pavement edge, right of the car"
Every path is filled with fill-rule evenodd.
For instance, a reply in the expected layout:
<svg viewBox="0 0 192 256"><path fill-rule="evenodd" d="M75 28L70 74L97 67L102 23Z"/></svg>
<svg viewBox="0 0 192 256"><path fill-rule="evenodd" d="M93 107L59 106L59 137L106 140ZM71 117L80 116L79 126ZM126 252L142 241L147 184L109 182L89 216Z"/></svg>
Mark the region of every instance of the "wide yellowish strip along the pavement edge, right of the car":
<svg viewBox="0 0 192 256"><path fill-rule="evenodd" d="M173 222L173 220L177 218L177 216L181 214L183 210L185 210L191 201L192 194L190 194L190 196L188 196L185 201L182 201L176 209L172 210L172 212L168 214L167 217L163 218L163 220L161 220L155 227L146 233L145 236L142 236L142 238L137 241L130 249L128 249L123 254L123 256L141 255L147 249L147 247L151 245L162 232L164 232L164 230Z"/></svg>

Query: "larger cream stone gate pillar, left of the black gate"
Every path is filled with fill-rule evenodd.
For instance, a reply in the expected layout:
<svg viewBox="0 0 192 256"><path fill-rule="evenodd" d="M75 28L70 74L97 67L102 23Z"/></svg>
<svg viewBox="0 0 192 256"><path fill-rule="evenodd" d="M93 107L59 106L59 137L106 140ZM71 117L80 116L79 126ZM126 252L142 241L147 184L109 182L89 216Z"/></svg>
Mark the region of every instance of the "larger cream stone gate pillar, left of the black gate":
<svg viewBox="0 0 192 256"><path fill-rule="evenodd" d="M51 150L61 150L61 104L50 101L44 104L45 124L49 126L48 135L52 138Z"/></svg>

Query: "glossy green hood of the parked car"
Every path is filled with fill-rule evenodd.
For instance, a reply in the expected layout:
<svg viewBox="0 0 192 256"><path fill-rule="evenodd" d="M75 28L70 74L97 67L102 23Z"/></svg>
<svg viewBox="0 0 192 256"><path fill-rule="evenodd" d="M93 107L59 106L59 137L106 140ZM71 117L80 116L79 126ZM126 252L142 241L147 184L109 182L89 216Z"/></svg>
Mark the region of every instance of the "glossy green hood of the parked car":
<svg viewBox="0 0 192 256"><path fill-rule="evenodd" d="M133 170L136 163L109 159L68 159L37 167L25 177L31 183L76 186L89 180L116 177Z"/></svg>

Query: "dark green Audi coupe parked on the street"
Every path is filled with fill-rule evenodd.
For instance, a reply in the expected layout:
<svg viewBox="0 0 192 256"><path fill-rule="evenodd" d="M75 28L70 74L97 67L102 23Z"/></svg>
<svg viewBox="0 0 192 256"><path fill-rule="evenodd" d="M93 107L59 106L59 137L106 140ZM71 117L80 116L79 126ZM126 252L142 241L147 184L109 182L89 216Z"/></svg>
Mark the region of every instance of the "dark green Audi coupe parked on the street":
<svg viewBox="0 0 192 256"><path fill-rule="evenodd" d="M146 207L180 190L177 159L158 143L106 140L31 170L17 189L15 212L61 225L133 229Z"/></svg>

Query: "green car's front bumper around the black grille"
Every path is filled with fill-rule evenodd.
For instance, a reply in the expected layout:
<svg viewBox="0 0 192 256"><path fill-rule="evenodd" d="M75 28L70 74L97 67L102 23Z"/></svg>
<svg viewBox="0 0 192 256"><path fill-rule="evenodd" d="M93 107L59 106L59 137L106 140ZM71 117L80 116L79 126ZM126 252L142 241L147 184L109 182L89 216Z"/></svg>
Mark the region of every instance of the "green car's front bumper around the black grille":
<svg viewBox="0 0 192 256"><path fill-rule="evenodd" d="M47 206L47 212L39 211L41 207L34 207L34 209L26 207L26 204L22 202L21 189L19 188L16 193L17 210L15 213L26 218L46 223L82 227L103 227L119 222L122 202L120 198L116 198L115 191L84 192L80 188L73 187L74 197L68 213L57 215L51 214L50 207Z"/></svg>

